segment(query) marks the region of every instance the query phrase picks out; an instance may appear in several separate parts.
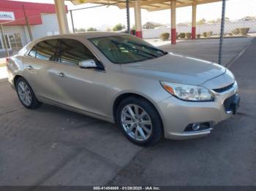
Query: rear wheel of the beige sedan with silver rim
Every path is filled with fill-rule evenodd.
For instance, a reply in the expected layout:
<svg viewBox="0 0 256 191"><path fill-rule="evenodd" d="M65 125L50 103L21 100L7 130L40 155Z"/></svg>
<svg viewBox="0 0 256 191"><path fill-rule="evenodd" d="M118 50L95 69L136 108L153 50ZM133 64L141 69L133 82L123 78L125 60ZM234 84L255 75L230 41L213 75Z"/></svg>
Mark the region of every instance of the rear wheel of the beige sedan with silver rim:
<svg viewBox="0 0 256 191"><path fill-rule="evenodd" d="M39 106L41 106L42 102L37 100L36 95L34 95L34 91L29 85L29 82L27 82L23 77L17 79L15 89L21 104L23 104L23 106L26 108L37 109Z"/></svg>

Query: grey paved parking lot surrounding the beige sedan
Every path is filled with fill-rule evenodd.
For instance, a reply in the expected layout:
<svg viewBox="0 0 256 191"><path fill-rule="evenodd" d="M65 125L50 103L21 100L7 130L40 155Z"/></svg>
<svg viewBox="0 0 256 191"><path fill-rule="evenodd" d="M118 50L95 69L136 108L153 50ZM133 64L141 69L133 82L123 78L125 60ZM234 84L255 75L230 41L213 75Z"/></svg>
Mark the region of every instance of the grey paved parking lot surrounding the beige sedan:
<svg viewBox="0 0 256 191"><path fill-rule="evenodd" d="M164 45L217 61L218 40ZM25 109L0 81L0 185L255 185L256 39L225 39L224 63L236 75L238 115L209 136L138 147L102 120L43 104ZM239 57L238 57L239 55Z"/></svg>

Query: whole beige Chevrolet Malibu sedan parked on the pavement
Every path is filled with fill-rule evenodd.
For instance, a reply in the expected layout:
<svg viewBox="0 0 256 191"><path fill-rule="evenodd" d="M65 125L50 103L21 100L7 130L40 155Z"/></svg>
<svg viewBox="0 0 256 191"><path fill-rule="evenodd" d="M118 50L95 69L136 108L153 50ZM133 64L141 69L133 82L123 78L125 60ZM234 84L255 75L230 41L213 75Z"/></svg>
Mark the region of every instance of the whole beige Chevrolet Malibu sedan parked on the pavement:
<svg viewBox="0 0 256 191"><path fill-rule="evenodd" d="M206 136L240 100L225 67L128 34L47 36L12 55L7 69L26 108L47 103L113 122L138 145Z"/></svg>

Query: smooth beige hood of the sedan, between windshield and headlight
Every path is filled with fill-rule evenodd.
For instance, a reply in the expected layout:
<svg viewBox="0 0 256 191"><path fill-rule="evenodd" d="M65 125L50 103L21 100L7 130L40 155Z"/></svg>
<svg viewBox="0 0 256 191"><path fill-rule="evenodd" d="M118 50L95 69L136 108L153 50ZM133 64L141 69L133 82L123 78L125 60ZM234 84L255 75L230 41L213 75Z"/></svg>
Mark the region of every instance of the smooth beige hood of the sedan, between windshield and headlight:
<svg viewBox="0 0 256 191"><path fill-rule="evenodd" d="M217 63L173 53L148 61L122 64L121 69L126 74L189 85L201 85L226 71Z"/></svg>

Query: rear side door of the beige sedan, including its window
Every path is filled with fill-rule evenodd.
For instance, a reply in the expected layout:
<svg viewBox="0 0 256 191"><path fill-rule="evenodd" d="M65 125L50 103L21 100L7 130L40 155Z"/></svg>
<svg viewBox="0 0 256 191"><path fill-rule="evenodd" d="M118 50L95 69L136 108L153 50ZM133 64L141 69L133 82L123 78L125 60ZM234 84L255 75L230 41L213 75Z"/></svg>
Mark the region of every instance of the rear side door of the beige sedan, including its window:
<svg viewBox="0 0 256 191"><path fill-rule="evenodd" d="M53 77L48 71L59 65L57 62L58 39L49 39L36 44L29 55L23 58L24 76L38 98L47 98L58 101L58 85L53 82Z"/></svg>

